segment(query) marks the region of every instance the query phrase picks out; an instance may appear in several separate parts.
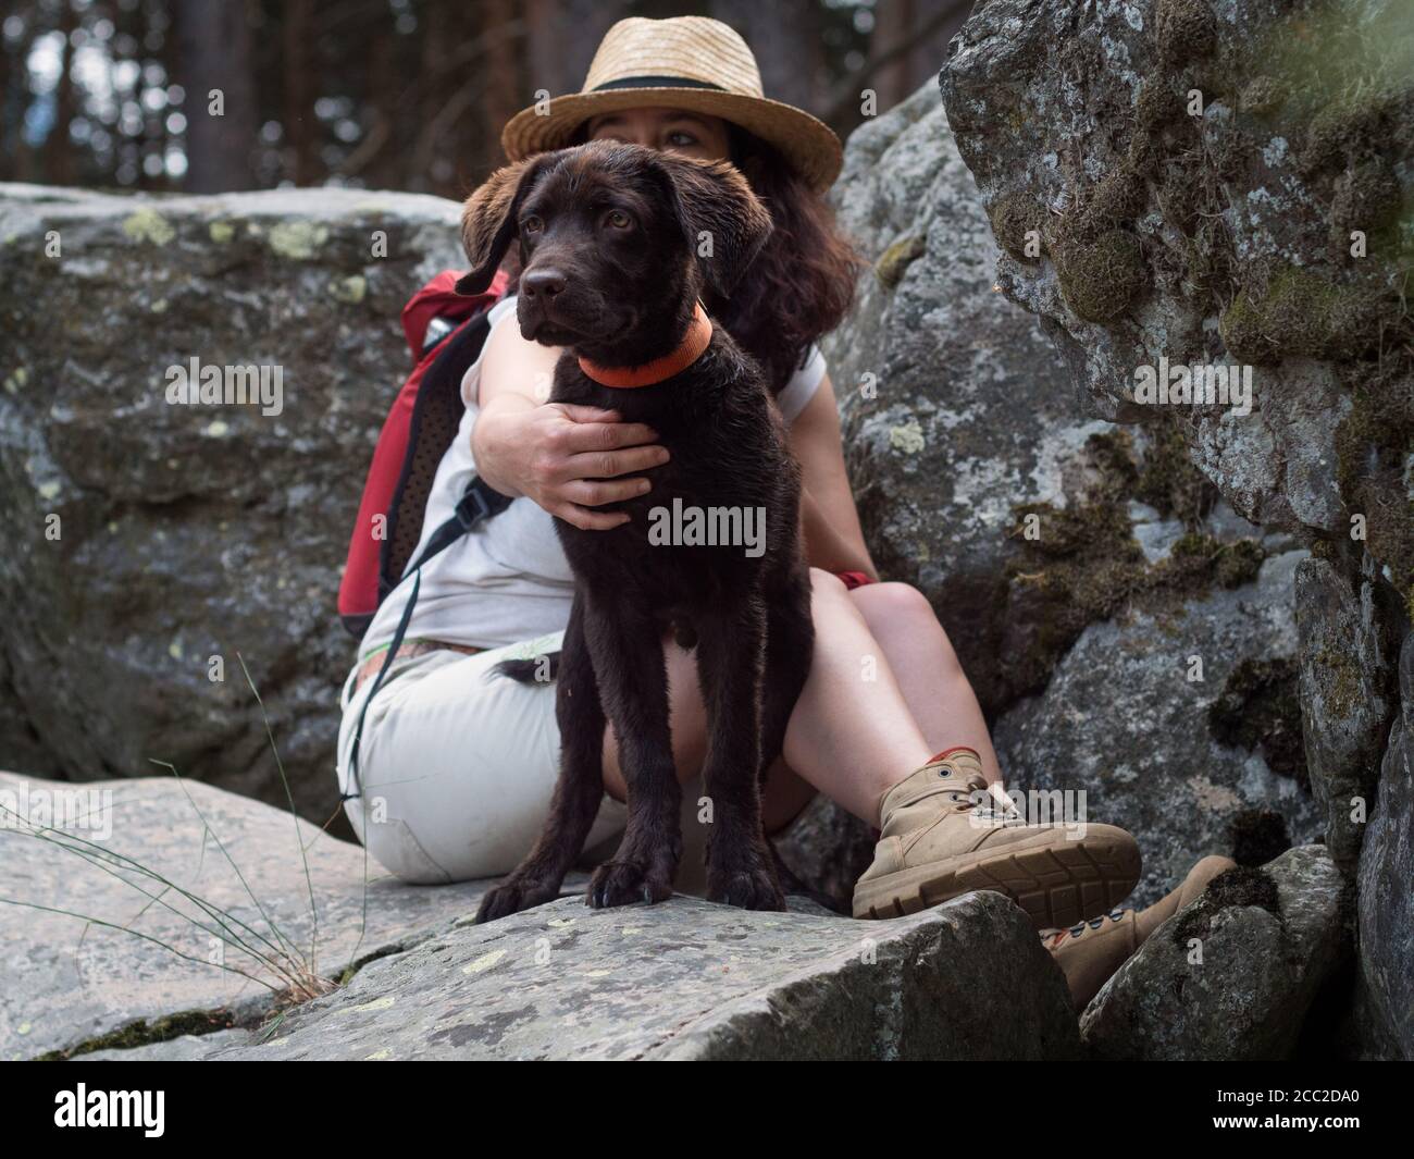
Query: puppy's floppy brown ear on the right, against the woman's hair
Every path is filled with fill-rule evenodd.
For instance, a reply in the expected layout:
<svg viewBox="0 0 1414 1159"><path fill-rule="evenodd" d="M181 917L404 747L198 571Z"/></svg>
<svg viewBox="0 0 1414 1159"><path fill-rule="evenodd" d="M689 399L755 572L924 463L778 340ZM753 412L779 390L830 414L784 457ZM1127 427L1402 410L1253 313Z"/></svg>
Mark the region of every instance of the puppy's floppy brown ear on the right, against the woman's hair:
<svg viewBox="0 0 1414 1159"><path fill-rule="evenodd" d="M731 297L741 276L771 236L771 214L730 161L655 157L667 178L687 246L707 284Z"/></svg>

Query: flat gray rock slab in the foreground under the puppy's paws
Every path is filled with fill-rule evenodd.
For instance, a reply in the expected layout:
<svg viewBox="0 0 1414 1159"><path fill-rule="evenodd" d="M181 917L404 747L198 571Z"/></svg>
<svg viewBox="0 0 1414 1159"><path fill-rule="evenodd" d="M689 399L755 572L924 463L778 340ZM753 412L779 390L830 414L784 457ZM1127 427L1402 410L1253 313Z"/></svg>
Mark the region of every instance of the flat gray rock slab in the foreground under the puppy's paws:
<svg viewBox="0 0 1414 1159"><path fill-rule="evenodd" d="M1001 894L882 923L809 910L561 899L452 923L288 1013L263 1043L208 1057L1076 1056L1060 972Z"/></svg>

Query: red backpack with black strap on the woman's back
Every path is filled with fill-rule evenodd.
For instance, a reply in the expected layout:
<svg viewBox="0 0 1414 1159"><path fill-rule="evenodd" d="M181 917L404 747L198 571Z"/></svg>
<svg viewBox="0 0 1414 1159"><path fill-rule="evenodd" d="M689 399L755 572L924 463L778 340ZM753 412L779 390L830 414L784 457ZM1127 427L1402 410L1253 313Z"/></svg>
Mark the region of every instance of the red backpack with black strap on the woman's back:
<svg viewBox="0 0 1414 1159"><path fill-rule="evenodd" d="M506 290L506 275L498 272L485 293L458 294L454 286L460 276L443 270L403 307L413 372L397 392L373 447L339 583L339 618L355 637L363 635L373 613L399 584L423 538L427 495L465 410L461 379L486 341L486 314ZM472 478L457 515L437 529L417 566L508 502Z"/></svg>

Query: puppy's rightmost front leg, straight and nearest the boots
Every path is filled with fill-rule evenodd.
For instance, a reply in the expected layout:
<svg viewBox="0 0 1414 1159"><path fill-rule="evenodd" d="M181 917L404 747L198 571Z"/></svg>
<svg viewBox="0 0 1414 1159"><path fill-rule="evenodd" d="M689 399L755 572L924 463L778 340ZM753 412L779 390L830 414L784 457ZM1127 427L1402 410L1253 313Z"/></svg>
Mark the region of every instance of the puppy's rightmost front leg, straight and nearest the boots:
<svg viewBox="0 0 1414 1159"><path fill-rule="evenodd" d="M759 596L728 599L699 618L697 674L707 706L703 781L711 801L707 899L783 910L761 824L761 678L766 613Z"/></svg>

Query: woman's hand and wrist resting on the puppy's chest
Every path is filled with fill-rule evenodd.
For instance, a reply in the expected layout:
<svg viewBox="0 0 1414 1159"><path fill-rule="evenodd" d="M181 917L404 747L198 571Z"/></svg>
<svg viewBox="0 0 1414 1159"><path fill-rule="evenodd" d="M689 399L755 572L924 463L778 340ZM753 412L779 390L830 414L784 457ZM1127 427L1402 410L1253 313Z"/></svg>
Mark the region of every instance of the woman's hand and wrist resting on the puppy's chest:
<svg viewBox="0 0 1414 1159"><path fill-rule="evenodd" d="M594 508L650 490L635 473L667 461L667 447L656 440L658 432L622 422L617 410L537 406L502 393L482 408L471 446L477 473L501 494L526 495L577 528L608 531L626 524L628 514Z"/></svg>

